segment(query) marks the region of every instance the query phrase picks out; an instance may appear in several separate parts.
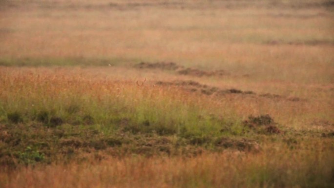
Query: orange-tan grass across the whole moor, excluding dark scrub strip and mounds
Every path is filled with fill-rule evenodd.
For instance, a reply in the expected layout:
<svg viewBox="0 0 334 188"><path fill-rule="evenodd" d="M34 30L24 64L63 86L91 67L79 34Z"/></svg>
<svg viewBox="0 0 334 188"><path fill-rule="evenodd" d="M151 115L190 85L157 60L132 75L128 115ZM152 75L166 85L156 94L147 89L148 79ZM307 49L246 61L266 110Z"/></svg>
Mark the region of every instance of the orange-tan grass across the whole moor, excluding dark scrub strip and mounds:
<svg viewBox="0 0 334 188"><path fill-rule="evenodd" d="M1 2L1 59L102 58L117 59L119 65L167 60L225 69L230 76L195 78L129 67L0 67L1 124L7 124L6 114L12 111L23 114L27 123L34 121L32 111L45 109L57 109L71 123L63 107L74 104L82 107L76 116L89 113L107 120L122 109L127 115L141 114L131 116L136 123L158 117L196 125L201 115L214 114L238 124L249 115L268 113L282 127L298 131L270 136L272 143L262 143L257 154L225 151L194 158L92 159L12 172L1 168L0 187L333 187L333 138L324 131L333 132L334 124L334 25L327 1L198 0L169 7L150 6L159 3L152 0L135 2L149 6L133 2L113 1L124 9L113 8L108 0L54 6L49 1ZM173 80L257 95L214 97L154 84ZM283 98L258 96L265 93ZM305 136L309 129L313 133ZM319 137L323 132L327 138Z"/></svg>

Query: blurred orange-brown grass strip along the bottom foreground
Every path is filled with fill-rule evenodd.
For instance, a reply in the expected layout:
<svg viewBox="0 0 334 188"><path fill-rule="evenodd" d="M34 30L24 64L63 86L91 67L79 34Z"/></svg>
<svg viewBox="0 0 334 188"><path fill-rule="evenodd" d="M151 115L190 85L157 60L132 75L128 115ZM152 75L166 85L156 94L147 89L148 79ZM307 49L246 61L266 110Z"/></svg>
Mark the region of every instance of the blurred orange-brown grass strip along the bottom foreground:
<svg viewBox="0 0 334 188"><path fill-rule="evenodd" d="M225 151L194 158L126 157L104 162L0 170L3 188L330 188L333 142L312 140L260 153Z"/></svg>

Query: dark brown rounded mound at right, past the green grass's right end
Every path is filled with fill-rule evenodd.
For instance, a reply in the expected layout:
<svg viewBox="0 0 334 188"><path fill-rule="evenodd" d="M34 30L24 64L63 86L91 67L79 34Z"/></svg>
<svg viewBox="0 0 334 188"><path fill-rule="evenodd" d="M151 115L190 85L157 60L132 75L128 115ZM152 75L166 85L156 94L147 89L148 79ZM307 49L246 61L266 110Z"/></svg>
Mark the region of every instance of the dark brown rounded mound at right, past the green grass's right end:
<svg viewBox="0 0 334 188"><path fill-rule="evenodd" d="M249 116L248 120L243 121L243 125L257 132L267 134L280 134L282 131L276 126L277 124L270 115L260 115L257 117Z"/></svg>

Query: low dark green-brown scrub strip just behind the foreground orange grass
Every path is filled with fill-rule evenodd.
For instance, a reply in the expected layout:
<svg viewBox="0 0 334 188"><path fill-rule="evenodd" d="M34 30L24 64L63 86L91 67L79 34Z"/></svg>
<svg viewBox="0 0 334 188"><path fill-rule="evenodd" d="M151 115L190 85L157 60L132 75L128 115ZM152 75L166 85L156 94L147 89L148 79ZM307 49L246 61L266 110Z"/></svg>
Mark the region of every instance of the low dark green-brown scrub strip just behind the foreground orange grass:
<svg viewBox="0 0 334 188"><path fill-rule="evenodd" d="M217 152L226 148L259 149L255 141L222 136L214 129L198 135L191 130L177 132L177 129L164 126L150 127L148 122L127 125L125 120L118 124L113 122L119 128L99 124L72 125L41 114L39 121L0 126L2 166L81 160L84 155L99 151L111 156L174 156L197 155L201 152L199 148Z"/></svg>

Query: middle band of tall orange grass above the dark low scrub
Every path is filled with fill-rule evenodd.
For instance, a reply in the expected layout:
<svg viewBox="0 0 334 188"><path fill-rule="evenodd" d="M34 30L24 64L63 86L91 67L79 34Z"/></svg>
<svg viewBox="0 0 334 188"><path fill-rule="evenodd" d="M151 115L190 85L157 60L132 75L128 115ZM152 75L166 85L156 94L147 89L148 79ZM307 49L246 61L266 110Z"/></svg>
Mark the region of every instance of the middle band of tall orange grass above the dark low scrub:
<svg viewBox="0 0 334 188"><path fill-rule="evenodd" d="M20 99L28 99L23 106L31 108L32 104L40 104L39 107L54 104L49 102L42 104L45 99L62 96L57 103L83 102L84 96L89 98L100 98L105 102L114 104L115 101L131 107L148 105L160 106L162 110L177 107L178 104L191 106L195 104L198 109L218 116L232 119L245 119L249 115L270 114L283 126L295 129L332 129L333 124L333 101L332 91L327 87L289 85L285 83L259 83L249 87L242 82L230 84L213 84L222 89L237 88L252 90L256 95L225 95L205 96L197 93L189 93L177 87L164 87L156 85L155 82L168 79L188 80L188 77L175 77L160 71L140 72L136 70L125 70L123 68L8 68L2 67L0 93L2 99L11 98L17 100L14 108L20 109ZM126 78L126 75L129 75ZM145 82L145 79L147 81ZM194 78L191 78L194 79ZM206 79L194 79L204 81L203 84L211 84ZM222 81L220 81L222 82ZM274 84L275 88L270 85ZM268 90L266 89L268 88ZM294 89L296 94L286 94ZM293 90L292 90L293 91ZM260 97L260 94L280 94L282 98ZM301 94L298 94L301 93ZM28 95L27 95L28 94ZM89 97L90 96L90 97ZM296 98L296 101L289 100ZM166 101L167 100L167 101ZM168 102L169 100L169 102ZM171 101L170 101L171 100ZM111 102L114 101L114 102ZM122 102L121 102L122 101ZM88 100L89 102L89 100ZM55 104L57 104L55 103ZM34 104L34 105L37 105ZM169 106L169 107L167 107ZM94 108L94 107L93 107ZM189 109L188 107L184 108ZM185 112L186 113L186 112ZM202 112L198 112L201 114ZM204 113L204 114L205 114ZM238 116L238 118L236 117Z"/></svg>

